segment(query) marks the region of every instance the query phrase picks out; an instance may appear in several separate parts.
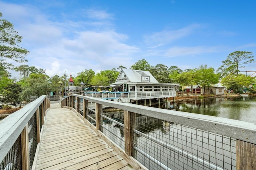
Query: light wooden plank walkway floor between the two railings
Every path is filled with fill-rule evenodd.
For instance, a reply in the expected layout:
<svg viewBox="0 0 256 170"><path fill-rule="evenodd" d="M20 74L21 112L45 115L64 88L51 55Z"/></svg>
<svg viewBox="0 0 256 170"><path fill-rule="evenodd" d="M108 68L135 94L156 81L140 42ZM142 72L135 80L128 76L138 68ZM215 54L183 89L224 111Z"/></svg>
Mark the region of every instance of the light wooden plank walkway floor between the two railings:
<svg viewBox="0 0 256 170"><path fill-rule="evenodd" d="M73 111L51 104L46 115L36 170L133 169Z"/></svg>

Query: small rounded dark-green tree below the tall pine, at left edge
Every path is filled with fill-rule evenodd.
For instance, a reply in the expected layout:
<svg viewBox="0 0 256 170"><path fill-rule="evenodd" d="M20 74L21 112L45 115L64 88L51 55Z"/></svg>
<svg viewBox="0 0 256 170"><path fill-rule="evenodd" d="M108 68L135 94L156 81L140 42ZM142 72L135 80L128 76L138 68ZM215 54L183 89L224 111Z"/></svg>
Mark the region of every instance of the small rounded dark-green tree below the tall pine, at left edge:
<svg viewBox="0 0 256 170"><path fill-rule="evenodd" d="M6 88L2 91L2 101L5 104L11 103L17 109L18 104L21 102L20 93L22 92L22 88L20 84L13 83L8 84Z"/></svg>

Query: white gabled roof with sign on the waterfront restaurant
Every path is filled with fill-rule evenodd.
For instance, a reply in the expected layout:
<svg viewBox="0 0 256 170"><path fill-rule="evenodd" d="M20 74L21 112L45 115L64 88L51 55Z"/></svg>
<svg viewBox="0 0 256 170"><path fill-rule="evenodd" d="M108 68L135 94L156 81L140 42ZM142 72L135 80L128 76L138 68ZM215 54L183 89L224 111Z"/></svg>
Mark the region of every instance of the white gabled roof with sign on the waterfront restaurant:
<svg viewBox="0 0 256 170"><path fill-rule="evenodd" d="M152 76L152 74L149 71L143 71L143 70L132 70L123 68L117 79L117 83L126 83L126 82L150 82L150 83L158 83L158 81Z"/></svg>

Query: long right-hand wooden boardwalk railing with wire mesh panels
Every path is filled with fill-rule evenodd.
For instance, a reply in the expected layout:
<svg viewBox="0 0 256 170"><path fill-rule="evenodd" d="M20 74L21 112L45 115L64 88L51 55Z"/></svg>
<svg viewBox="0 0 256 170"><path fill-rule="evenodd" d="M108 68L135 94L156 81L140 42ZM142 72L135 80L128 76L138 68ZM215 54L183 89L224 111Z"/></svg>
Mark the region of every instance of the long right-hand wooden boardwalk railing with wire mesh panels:
<svg viewBox="0 0 256 170"><path fill-rule="evenodd" d="M136 169L255 169L254 123L76 94L61 106L78 113Z"/></svg>

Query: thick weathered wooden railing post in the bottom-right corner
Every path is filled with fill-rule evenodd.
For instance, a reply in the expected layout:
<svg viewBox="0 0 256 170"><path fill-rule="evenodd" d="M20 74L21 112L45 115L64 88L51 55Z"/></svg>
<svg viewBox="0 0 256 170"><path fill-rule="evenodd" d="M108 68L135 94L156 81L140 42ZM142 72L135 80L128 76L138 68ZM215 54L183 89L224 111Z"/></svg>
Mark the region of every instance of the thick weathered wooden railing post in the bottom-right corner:
<svg viewBox="0 0 256 170"><path fill-rule="evenodd" d="M236 140L236 169L256 169L256 145Z"/></svg>

